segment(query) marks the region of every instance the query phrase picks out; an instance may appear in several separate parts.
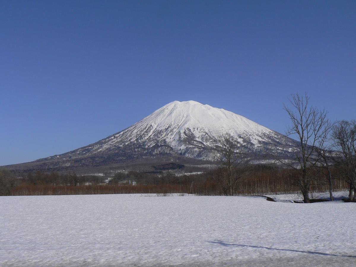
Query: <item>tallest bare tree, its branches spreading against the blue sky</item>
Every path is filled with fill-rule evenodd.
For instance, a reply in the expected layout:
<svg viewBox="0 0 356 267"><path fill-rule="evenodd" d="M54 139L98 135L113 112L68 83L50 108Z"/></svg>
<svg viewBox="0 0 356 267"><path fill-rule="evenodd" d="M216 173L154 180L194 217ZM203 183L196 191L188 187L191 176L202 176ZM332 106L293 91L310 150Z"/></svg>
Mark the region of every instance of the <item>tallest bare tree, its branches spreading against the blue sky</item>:
<svg viewBox="0 0 356 267"><path fill-rule="evenodd" d="M287 111L292 122L292 126L287 129L286 135L296 136L299 146L292 162L281 162L300 171L296 185L302 191L304 203L310 203L309 189L315 181L315 177L310 174L319 162L317 146L320 145L328 131L330 124L326 118L328 112L310 106L307 93L305 95L292 94L289 102L292 105L291 108L283 105L283 109Z"/></svg>

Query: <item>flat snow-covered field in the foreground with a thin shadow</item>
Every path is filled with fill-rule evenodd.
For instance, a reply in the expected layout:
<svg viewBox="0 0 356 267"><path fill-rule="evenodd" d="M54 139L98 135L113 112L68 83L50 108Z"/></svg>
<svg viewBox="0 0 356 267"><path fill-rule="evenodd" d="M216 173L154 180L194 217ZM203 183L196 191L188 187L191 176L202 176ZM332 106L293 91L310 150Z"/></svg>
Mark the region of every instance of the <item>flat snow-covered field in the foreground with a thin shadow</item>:
<svg viewBox="0 0 356 267"><path fill-rule="evenodd" d="M0 197L0 266L356 266L355 214L259 197Z"/></svg>

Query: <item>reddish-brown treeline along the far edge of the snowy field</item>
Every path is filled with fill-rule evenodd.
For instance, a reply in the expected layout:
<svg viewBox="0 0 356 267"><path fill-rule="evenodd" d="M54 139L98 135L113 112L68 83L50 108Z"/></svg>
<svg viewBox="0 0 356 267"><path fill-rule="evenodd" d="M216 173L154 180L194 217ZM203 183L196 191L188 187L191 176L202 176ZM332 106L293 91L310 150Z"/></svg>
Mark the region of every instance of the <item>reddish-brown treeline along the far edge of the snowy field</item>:
<svg viewBox="0 0 356 267"><path fill-rule="evenodd" d="M345 190L348 184L333 172L333 189ZM296 193L298 171L271 165L250 165L237 179L234 195ZM328 180L323 167L313 173L311 192L328 191ZM229 195L226 169L219 168L194 175L174 175L169 172L119 172L114 177L78 176L75 173L28 173L16 177L11 172L0 172L1 195L73 195L73 194L127 194L127 193L190 193L197 195Z"/></svg>

